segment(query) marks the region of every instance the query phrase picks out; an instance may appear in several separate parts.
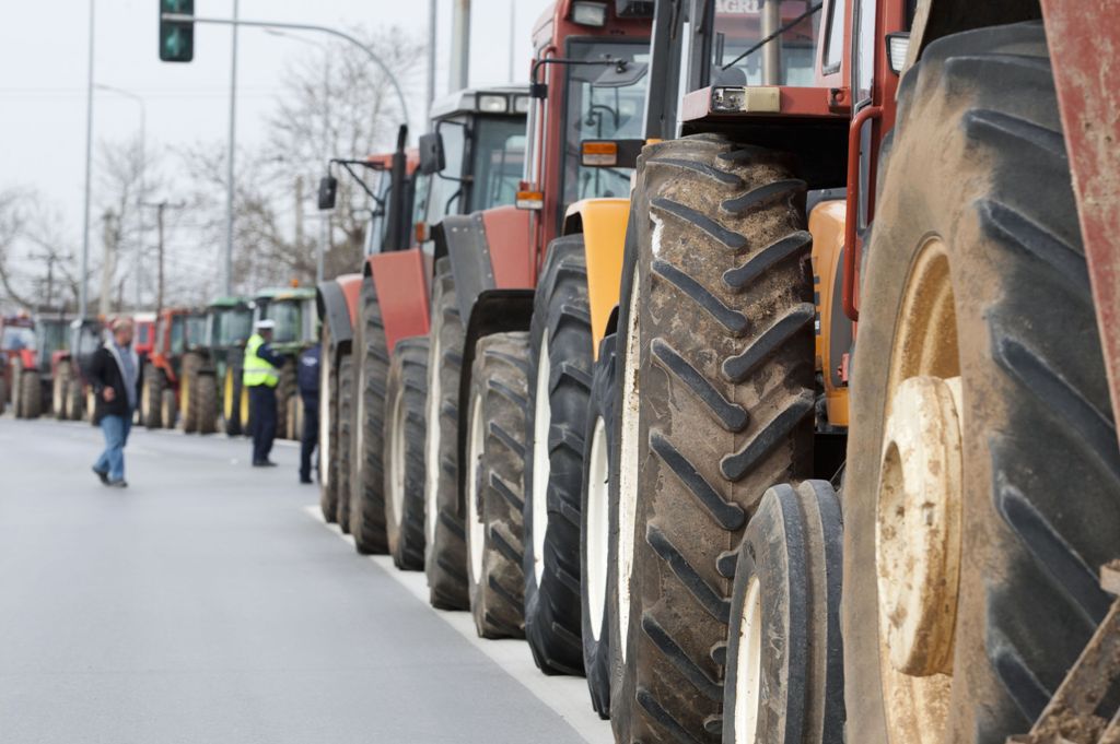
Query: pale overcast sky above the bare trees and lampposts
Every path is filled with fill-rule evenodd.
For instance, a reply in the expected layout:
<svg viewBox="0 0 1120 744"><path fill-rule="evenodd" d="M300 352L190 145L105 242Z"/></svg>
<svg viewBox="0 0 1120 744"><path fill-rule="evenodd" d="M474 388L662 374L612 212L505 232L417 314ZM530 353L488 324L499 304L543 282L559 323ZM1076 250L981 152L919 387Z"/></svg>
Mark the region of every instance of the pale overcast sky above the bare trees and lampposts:
<svg viewBox="0 0 1120 744"><path fill-rule="evenodd" d="M226 136L230 29L199 25L190 64L160 63L158 0L95 0L97 83L143 97L149 147L172 148ZM474 0L470 84L528 77L529 35L549 0ZM85 81L88 0L4 0L0 22L0 190L30 186L64 211L81 243L85 167ZM447 91L451 0L438 0L437 93ZM232 0L196 0L199 17L230 17ZM511 13L515 23L512 46ZM427 0L241 0L241 17L325 26L400 26L427 38ZM311 34L304 38L317 40ZM261 120L280 90L287 60L316 49L291 38L244 28L239 50L239 142L258 142ZM409 92L413 131L423 113L427 59L417 59ZM121 140L136 132L140 106L97 91L94 139ZM96 178L94 178L96 182ZM174 195L169 195L174 198ZM94 228L95 229L95 228ZM95 236L91 243L96 245Z"/></svg>

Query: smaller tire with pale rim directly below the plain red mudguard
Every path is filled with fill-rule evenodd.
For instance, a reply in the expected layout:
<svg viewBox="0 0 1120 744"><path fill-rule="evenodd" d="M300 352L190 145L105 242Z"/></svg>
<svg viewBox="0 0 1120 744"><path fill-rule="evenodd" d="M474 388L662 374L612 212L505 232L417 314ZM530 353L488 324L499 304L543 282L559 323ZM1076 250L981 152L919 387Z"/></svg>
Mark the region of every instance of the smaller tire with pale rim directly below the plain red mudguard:
<svg viewBox="0 0 1120 744"><path fill-rule="evenodd" d="M393 563L423 571L424 409L428 337L396 342L385 386L385 537Z"/></svg>

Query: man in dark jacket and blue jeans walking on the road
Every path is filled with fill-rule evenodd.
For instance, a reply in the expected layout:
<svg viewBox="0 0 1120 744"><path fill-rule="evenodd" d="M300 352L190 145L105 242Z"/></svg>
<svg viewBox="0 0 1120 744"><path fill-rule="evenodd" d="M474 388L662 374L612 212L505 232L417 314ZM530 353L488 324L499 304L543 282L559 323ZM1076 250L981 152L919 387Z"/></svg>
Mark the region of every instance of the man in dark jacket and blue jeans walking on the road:
<svg viewBox="0 0 1120 744"><path fill-rule="evenodd" d="M112 338L97 349L90 361L90 379L96 399L93 423L101 426L105 451L93 463L93 472L111 488L127 488L124 480L124 445L132 428L132 412L137 407L137 382L140 365L132 349L132 321L113 321Z"/></svg>

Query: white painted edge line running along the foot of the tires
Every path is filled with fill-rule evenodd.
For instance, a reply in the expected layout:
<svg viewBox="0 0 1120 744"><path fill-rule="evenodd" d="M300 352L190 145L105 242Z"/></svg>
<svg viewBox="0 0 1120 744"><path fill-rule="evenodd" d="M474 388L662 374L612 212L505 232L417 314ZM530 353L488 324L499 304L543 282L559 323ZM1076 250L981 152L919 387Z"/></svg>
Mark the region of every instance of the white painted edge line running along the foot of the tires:
<svg viewBox="0 0 1120 744"><path fill-rule="evenodd" d="M317 505L304 507L311 519L319 522L338 537L346 540L351 546L354 538L343 535L337 525L328 525L323 519L323 512ZM366 556L377 565L393 581L408 590L426 608L428 608L444 622L458 631L472 646L485 653L491 661L500 666L507 675L532 693L536 698L549 706L558 716L563 718L569 726L576 729L588 744L613 744L614 735L610 733L610 724L601 721L591 709L591 700L588 697L587 680L582 677L545 677L533 663L532 653L524 641L506 639L492 641L478 638L475 631L475 622L469 612L448 612L437 610L428 603L428 580L420 571L400 571L393 565L393 559L388 555Z"/></svg>

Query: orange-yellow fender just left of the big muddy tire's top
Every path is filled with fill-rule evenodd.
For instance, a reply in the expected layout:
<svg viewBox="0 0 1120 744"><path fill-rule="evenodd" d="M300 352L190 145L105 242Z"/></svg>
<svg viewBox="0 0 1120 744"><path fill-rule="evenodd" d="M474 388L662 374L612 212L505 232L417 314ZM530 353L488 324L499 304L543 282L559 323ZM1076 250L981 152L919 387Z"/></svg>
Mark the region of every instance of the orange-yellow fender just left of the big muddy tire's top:
<svg viewBox="0 0 1120 744"><path fill-rule="evenodd" d="M584 234L591 350L596 358L599 341L607 333L607 321L618 305L628 220L629 199L584 199L568 207L564 215L564 234Z"/></svg>

